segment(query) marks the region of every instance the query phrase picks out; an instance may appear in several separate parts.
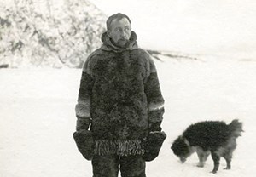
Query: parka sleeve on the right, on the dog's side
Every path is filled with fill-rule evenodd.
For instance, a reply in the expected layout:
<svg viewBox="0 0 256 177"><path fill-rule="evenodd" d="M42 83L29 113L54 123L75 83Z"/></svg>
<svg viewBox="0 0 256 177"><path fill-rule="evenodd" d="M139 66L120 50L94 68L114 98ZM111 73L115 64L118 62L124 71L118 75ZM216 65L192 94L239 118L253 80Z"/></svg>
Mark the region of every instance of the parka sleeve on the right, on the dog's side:
<svg viewBox="0 0 256 177"><path fill-rule="evenodd" d="M148 77L145 82L145 94L148 100L148 125L149 131L161 131L163 120L164 98L161 94L160 83L154 61L149 58Z"/></svg>

